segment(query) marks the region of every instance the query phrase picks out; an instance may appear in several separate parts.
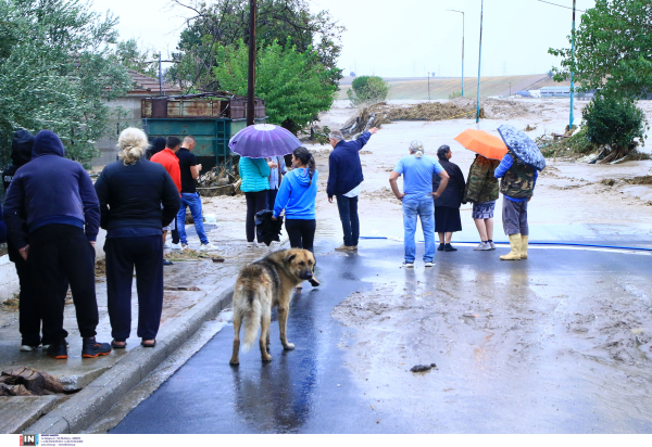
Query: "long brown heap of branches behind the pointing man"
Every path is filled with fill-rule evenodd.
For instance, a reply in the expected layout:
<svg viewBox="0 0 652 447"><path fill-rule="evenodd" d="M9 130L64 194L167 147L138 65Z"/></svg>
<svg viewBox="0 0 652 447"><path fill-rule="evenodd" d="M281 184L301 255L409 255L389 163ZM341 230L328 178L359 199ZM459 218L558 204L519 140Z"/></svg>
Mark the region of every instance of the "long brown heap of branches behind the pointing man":
<svg viewBox="0 0 652 447"><path fill-rule="evenodd" d="M351 117L342 127L344 137L354 136L368 130L371 127L380 127L392 122L440 122L444 119L473 118L476 107L453 102L422 102L413 105L390 105L386 102L369 105L360 111L358 116ZM480 108L480 118L485 111Z"/></svg>

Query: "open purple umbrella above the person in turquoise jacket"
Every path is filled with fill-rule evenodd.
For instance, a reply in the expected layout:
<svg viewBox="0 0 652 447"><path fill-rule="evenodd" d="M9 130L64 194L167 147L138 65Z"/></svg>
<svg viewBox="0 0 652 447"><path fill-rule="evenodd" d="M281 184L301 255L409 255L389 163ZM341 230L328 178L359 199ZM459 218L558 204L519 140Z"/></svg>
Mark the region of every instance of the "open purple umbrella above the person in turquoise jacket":
<svg viewBox="0 0 652 447"><path fill-rule="evenodd" d="M273 124L255 124L240 130L229 141L233 152L249 158L291 154L301 141L289 130Z"/></svg>

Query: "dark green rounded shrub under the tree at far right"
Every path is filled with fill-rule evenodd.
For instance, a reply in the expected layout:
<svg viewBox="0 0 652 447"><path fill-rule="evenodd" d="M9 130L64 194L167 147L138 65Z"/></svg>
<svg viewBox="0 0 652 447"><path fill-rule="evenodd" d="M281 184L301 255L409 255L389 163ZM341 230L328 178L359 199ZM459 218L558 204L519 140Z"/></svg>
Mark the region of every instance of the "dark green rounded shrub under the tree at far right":
<svg viewBox="0 0 652 447"><path fill-rule="evenodd" d="M645 114L635 100L610 94L595 97L584 110L582 117L587 139L611 151L603 163L626 156L644 142L649 129Z"/></svg>

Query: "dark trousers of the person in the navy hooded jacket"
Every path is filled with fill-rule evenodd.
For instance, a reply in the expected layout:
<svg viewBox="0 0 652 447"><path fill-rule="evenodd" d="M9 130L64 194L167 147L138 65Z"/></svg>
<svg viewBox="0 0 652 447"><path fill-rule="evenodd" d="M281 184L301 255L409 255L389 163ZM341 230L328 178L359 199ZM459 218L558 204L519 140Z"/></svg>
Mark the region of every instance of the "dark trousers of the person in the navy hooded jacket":
<svg viewBox="0 0 652 447"><path fill-rule="evenodd" d="M52 224L29 234L27 257L43 319L43 340L51 343L67 336L63 329L65 294L71 284L77 327L83 337L96 335L98 303L95 293L95 248L84 230Z"/></svg>

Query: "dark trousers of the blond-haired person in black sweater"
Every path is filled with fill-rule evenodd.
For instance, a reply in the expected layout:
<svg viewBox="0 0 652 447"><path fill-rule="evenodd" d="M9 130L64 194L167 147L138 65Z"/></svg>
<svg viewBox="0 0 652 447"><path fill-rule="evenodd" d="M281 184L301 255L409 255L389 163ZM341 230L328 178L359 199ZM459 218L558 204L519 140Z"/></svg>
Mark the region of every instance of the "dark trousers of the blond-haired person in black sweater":
<svg viewBox="0 0 652 447"><path fill-rule="evenodd" d="M138 336L154 340L163 311L163 240L160 235L110 238L106 253L106 292L111 335L127 340L131 332L131 281L136 267Z"/></svg>

